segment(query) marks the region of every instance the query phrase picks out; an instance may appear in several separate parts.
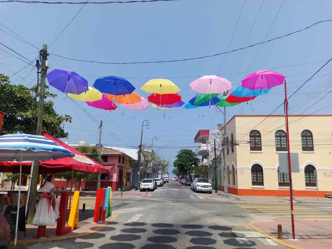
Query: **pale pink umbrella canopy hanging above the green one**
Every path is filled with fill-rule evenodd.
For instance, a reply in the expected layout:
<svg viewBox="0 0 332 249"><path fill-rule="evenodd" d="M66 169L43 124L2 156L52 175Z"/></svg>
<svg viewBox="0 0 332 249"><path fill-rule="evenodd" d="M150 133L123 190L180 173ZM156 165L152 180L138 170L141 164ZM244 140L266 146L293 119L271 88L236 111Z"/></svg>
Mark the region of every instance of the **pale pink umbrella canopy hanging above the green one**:
<svg viewBox="0 0 332 249"><path fill-rule="evenodd" d="M232 89L230 81L216 75L205 75L189 85L193 91L205 94L223 93Z"/></svg>

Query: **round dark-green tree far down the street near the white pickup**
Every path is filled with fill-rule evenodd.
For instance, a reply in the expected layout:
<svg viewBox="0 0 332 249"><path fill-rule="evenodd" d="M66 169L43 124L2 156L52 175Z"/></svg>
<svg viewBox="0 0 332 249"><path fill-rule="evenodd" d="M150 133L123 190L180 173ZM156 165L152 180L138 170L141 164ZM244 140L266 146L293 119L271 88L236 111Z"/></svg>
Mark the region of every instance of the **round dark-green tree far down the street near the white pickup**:
<svg viewBox="0 0 332 249"><path fill-rule="evenodd" d="M176 160L173 163L178 174L189 175L191 180L192 174L201 175L203 168L198 166L200 159L196 157L195 153L189 149L181 149L176 155Z"/></svg>

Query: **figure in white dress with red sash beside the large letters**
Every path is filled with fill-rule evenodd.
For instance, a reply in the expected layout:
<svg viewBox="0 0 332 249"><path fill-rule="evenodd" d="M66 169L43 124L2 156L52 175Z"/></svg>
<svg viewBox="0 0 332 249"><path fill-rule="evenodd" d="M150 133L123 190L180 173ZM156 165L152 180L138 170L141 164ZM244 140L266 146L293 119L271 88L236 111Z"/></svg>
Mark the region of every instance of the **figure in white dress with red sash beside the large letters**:
<svg viewBox="0 0 332 249"><path fill-rule="evenodd" d="M59 218L59 201L53 195L55 175L49 175L44 185L38 190L42 192L41 200L36 204L36 213L32 224L36 226L54 226Z"/></svg>

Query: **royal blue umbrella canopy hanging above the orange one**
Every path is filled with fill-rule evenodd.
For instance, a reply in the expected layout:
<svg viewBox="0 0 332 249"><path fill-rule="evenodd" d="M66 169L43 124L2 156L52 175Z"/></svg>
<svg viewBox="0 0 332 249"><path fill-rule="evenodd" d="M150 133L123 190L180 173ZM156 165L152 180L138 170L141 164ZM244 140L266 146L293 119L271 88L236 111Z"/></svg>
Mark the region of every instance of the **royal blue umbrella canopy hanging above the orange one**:
<svg viewBox="0 0 332 249"><path fill-rule="evenodd" d="M93 87L102 93L113 95L130 94L135 90L135 87L130 84L125 78L118 76L106 76L96 79Z"/></svg>

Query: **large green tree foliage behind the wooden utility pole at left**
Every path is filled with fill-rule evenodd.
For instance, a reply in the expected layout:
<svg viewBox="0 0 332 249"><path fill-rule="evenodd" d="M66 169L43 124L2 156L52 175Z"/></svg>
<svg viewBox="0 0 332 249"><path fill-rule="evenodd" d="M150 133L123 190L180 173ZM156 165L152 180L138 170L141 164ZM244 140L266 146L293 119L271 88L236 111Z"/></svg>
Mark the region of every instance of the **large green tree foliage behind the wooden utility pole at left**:
<svg viewBox="0 0 332 249"><path fill-rule="evenodd" d="M45 99L56 98L56 94L47 91ZM0 73L0 110L9 115L3 117L1 134L24 132L36 134L39 102L35 97L36 86L28 88L24 85L14 85L9 77ZM68 133L61 128L63 122L70 122L69 115L60 116L54 110L53 101L44 102L43 131L57 138L67 137Z"/></svg>

